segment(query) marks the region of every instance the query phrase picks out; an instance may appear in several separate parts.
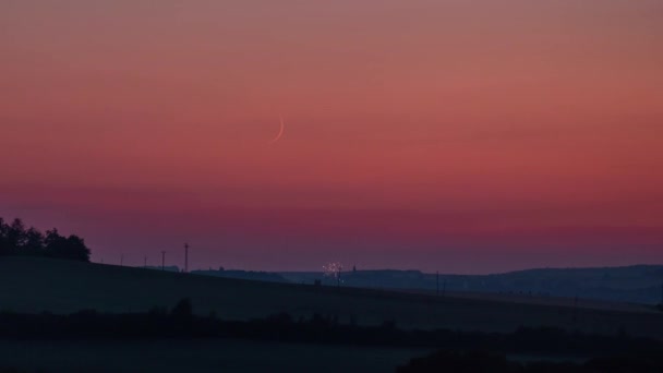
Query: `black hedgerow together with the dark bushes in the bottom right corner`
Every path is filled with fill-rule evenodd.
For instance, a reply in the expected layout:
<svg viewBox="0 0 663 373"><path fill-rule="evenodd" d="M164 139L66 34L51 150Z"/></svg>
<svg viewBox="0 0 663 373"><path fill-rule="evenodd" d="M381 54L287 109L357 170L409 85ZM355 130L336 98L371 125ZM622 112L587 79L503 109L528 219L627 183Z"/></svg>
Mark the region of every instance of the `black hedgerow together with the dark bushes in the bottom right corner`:
<svg viewBox="0 0 663 373"><path fill-rule="evenodd" d="M411 330L394 322L362 326L341 324L334 315L294 318L287 313L250 321L222 320L215 312L200 316L190 299L172 309L142 313L21 314L0 311L0 338L5 340L154 340L243 339L337 346L436 349L399 366L419 372L663 372L663 341L628 336L591 335L560 328L521 327L513 333L450 329ZM526 363L507 357L532 357ZM584 363L535 361L537 357L577 357ZM564 359L562 359L564 360Z"/></svg>

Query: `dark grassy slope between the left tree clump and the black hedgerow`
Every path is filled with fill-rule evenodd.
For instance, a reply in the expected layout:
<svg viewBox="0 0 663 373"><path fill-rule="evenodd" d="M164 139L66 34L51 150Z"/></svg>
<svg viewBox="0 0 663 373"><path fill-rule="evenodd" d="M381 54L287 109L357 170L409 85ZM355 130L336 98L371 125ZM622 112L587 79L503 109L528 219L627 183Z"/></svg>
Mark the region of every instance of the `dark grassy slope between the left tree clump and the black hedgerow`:
<svg viewBox="0 0 663 373"><path fill-rule="evenodd" d="M200 314L264 317L317 312L360 324L396 321L402 327L510 332L518 326L558 326L615 334L663 336L663 313L514 302L498 297L444 299L369 289L314 287L215 278L159 270L29 257L0 258L0 310L70 313L81 309L143 312L191 298ZM582 301L581 301L582 303Z"/></svg>

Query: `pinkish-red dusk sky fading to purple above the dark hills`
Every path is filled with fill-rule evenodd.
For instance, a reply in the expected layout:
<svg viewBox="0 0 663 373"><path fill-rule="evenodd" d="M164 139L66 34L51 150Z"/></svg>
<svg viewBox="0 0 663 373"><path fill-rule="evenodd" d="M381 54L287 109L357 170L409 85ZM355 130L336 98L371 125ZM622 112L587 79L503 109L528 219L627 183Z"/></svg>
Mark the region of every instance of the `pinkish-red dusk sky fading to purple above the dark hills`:
<svg viewBox="0 0 663 373"><path fill-rule="evenodd" d="M0 216L109 264L661 264L662 39L660 0L1 0Z"/></svg>

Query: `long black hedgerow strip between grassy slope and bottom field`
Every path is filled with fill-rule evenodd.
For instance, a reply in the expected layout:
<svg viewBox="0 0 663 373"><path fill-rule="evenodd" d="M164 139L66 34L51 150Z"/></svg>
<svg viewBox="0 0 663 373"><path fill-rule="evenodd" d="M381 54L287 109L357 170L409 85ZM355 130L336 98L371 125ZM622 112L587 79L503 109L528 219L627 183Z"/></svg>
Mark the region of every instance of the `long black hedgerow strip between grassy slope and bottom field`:
<svg viewBox="0 0 663 373"><path fill-rule="evenodd" d="M520 328L511 334L458 330L406 330L393 322L377 326L341 324L338 317L313 314L293 320L287 313L252 321L225 321L210 313L196 316L192 302L181 300L170 311L105 314L94 310L70 315L0 313L0 338L9 339L150 339L241 338L261 341L334 344L376 347L423 347L451 351L492 351L502 354L617 357L661 356L663 341L568 333L557 328ZM443 352L441 352L443 353ZM458 362L462 356L448 356ZM485 357L497 364L494 356ZM442 359L437 356L430 359ZM444 360L442 359L442 360ZM460 360L459 360L460 359ZM458 361L457 361L458 360ZM510 364L507 364L510 366ZM505 365L505 366L507 366ZM506 368L505 368L506 369ZM509 368L510 369L510 368Z"/></svg>

